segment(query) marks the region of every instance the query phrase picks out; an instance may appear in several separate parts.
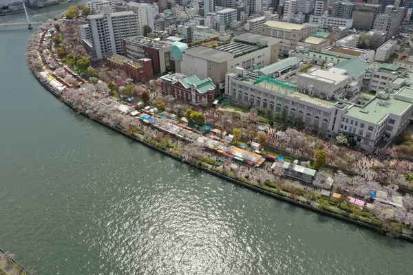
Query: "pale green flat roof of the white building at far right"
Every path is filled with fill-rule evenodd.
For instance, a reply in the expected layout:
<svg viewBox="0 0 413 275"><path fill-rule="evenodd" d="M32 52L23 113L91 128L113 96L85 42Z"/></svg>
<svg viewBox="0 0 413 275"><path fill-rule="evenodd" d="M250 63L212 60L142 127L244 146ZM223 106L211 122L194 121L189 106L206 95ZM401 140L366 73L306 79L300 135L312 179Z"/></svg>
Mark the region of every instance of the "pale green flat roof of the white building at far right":
<svg viewBox="0 0 413 275"><path fill-rule="evenodd" d="M392 96L387 99L375 97L363 107L353 105L348 109L347 114L366 122L379 123L389 113L401 115L410 105L412 103L398 100Z"/></svg>

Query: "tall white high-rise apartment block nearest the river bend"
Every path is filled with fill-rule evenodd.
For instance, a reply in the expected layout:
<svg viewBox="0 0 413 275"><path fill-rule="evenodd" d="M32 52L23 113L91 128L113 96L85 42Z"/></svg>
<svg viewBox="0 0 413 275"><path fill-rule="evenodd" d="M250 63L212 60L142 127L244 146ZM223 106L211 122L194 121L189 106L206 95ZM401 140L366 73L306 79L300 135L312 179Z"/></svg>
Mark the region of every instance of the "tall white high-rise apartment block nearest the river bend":
<svg viewBox="0 0 413 275"><path fill-rule="evenodd" d="M111 13L110 7L104 6L102 13L89 15L87 21L92 36L83 39L83 45L96 59L102 59L105 52L125 54L123 39L141 34L138 16L131 11Z"/></svg>

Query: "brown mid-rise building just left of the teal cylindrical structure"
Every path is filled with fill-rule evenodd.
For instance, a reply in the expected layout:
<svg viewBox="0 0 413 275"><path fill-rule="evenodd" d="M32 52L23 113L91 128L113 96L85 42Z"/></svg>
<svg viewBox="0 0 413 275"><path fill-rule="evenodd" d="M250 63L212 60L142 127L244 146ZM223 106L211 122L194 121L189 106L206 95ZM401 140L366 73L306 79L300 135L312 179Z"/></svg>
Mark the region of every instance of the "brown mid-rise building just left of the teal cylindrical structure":
<svg viewBox="0 0 413 275"><path fill-rule="evenodd" d="M145 36L123 39L124 52L128 58L151 59L153 74L165 74L171 70L171 44Z"/></svg>

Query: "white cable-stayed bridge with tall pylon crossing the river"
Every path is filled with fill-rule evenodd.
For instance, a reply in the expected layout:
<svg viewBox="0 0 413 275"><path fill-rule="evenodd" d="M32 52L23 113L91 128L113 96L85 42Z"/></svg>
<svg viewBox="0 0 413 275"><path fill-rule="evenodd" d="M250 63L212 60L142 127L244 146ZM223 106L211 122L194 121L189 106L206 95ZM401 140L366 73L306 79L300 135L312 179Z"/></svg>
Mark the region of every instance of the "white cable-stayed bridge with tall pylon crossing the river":
<svg viewBox="0 0 413 275"><path fill-rule="evenodd" d="M36 17L36 21L31 21L30 18ZM32 30L33 25L41 25L48 18L39 12L35 12L25 6L25 3L21 2L21 8L10 12L0 17L0 27L12 26L12 25L28 25L28 30Z"/></svg>

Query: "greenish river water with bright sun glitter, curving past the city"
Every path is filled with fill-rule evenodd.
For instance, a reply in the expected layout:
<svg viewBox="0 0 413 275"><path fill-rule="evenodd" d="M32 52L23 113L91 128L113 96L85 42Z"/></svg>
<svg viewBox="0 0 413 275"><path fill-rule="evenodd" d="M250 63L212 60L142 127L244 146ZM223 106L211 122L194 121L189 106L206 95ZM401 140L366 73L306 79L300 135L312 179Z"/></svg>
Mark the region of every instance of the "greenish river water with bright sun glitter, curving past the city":
<svg viewBox="0 0 413 275"><path fill-rule="evenodd" d="M29 36L0 32L0 248L29 270L412 274L412 243L194 170L65 107L30 74Z"/></svg>

